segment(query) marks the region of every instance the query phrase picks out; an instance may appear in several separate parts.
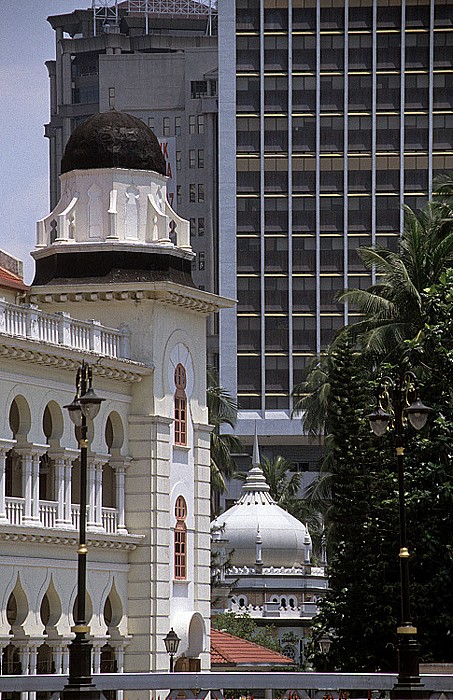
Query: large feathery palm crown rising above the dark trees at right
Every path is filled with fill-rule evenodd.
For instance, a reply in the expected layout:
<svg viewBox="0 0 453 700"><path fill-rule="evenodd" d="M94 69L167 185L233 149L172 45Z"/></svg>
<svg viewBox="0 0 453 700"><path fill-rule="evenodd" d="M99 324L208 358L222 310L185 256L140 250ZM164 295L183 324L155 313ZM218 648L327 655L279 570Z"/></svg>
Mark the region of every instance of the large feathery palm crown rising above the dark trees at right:
<svg viewBox="0 0 453 700"><path fill-rule="evenodd" d="M362 350L375 360L399 354L404 341L416 337L422 329L422 292L453 265L451 211L446 196L417 213L406 207L404 231L396 251L359 248L365 267L375 269L378 282L366 290L346 290L339 299L363 315L362 321L345 332L359 340Z"/></svg>

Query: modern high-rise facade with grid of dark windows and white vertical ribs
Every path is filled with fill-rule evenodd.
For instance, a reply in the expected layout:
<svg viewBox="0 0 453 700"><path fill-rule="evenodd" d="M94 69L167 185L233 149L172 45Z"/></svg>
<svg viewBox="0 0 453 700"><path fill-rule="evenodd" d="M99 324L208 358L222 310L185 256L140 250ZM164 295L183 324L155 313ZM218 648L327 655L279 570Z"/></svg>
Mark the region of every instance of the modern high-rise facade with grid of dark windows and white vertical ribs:
<svg viewBox="0 0 453 700"><path fill-rule="evenodd" d="M221 383L293 459L293 387L373 282L357 248L453 168L452 47L451 0L219 3Z"/></svg>

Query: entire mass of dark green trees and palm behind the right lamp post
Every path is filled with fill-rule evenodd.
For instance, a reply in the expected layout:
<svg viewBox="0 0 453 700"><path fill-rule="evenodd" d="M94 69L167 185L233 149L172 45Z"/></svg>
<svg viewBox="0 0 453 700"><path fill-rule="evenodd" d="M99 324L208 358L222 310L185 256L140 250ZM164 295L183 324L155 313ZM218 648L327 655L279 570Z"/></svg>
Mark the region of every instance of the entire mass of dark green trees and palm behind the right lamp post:
<svg viewBox="0 0 453 700"><path fill-rule="evenodd" d="M400 621L398 484L392 433L370 434L379 377L414 370L429 425L407 428L404 458L412 619L424 660L453 661L453 181L420 213L406 212L396 252L361 251L379 273L344 299L363 320L328 349L299 391L313 432L324 429L330 591L313 640L326 631L330 669L394 670ZM392 364L389 365L388 363ZM387 363L387 364L386 364ZM319 499L318 499L319 500ZM315 664L324 666L313 644Z"/></svg>

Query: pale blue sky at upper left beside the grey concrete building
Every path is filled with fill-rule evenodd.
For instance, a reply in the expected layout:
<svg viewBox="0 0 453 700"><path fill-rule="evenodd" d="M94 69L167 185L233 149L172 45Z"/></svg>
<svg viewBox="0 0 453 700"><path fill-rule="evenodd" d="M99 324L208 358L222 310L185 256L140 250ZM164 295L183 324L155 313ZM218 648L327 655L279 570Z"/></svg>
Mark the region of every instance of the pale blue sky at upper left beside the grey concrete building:
<svg viewBox="0 0 453 700"><path fill-rule="evenodd" d="M0 248L23 260L28 283L36 221L49 213L47 17L87 7L91 0L0 0Z"/></svg>

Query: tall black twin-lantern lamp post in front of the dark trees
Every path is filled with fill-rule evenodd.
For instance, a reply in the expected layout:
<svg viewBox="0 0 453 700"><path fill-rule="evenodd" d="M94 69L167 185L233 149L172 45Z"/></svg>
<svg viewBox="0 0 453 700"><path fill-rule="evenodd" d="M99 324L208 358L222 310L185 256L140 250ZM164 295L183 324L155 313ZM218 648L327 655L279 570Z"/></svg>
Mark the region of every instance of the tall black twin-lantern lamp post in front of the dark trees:
<svg viewBox="0 0 453 700"><path fill-rule="evenodd" d="M391 423L395 431L395 451L398 468L398 500L400 521L400 580L401 624L398 634L398 682L392 698L420 698L424 696L420 680L417 628L411 622L409 590L409 550L406 535L406 503L404 495L404 431L407 420L415 430L421 430L431 408L418 397L417 378L413 372L404 372L398 379L384 377L378 387L377 406L368 420L375 435L382 436Z"/></svg>

